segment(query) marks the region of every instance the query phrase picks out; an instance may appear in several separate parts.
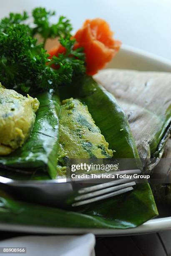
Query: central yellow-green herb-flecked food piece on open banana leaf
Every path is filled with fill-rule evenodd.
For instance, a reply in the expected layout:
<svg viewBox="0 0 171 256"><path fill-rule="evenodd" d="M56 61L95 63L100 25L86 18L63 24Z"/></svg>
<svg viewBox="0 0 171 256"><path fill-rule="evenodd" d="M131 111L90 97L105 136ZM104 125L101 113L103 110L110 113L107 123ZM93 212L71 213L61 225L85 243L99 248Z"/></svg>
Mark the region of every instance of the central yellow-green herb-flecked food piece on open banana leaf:
<svg viewBox="0 0 171 256"><path fill-rule="evenodd" d="M86 105L77 99L63 100L60 111L58 164L66 158L111 158L113 151L96 126Z"/></svg>

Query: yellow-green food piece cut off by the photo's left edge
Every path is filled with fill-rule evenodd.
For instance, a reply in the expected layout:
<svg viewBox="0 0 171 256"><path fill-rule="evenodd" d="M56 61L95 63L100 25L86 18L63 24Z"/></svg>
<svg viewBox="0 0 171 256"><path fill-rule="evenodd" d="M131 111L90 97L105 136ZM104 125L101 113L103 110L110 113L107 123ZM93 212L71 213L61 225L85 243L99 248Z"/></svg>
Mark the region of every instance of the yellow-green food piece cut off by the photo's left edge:
<svg viewBox="0 0 171 256"><path fill-rule="evenodd" d="M30 135L38 110L37 98L8 90L0 85L0 155L23 145Z"/></svg>

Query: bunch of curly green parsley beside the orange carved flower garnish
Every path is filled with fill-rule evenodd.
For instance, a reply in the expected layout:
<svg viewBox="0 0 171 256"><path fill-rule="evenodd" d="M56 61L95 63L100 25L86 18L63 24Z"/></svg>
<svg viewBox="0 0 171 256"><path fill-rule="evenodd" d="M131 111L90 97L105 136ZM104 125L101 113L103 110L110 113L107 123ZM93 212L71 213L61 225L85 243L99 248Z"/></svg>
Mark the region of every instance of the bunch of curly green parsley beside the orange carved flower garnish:
<svg viewBox="0 0 171 256"><path fill-rule="evenodd" d="M10 13L0 21L0 82L6 88L25 93L56 90L85 73L83 49L74 50L75 39L70 39L69 20L61 16L58 23L51 24L53 15L55 12L36 8L33 10L34 26L25 24L30 18L26 12ZM37 33L43 38L43 44L38 44ZM56 36L65 52L49 59L44 45L48 38ZM53 64L58 69L53 69Z"/></svg>

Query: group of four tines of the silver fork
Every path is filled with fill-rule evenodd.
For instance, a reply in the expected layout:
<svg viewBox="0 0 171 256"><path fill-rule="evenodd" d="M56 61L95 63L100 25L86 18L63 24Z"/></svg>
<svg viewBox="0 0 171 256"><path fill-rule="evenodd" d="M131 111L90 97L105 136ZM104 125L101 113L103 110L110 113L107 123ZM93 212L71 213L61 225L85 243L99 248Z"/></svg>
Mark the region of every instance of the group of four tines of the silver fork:
<svg viewBox="0 0 171 256"><path fill-rule="evenodd" d="M117 174L127 174L127 175L140 174L140 173L141 173L141 170L139 169L117 172ZM135 180L135 178L132 178L129 180L117 179L111 182L106 182L103 184L93 185L91 187L81 188L78 190L78 194L81 194L81 195L78 195L74 198L76 202L72 204L72 207L86 205L92 202L106 199L108 197L121 195L128 191L131 191L133 190L133 186L136 185L136 182L133 180Z"/></svg>

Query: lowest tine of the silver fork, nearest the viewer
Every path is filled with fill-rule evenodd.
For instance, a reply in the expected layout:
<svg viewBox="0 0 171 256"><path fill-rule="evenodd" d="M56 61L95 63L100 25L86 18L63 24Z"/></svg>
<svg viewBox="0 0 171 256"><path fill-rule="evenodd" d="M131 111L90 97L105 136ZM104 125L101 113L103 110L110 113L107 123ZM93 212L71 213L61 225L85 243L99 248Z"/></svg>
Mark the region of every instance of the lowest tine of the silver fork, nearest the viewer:
<svg viewBox="0 0 171 256"><path fill-rule="evenodd" d="M99 197L94 197L94 198L91 198L91 199L88 199L88 200L75 202L75 203L72 204L72 206L75 207L75 206L80 206L80 205L86 205L86 204L89 204L91 202L96 202L96 201L99 201L99 200L102 200L102 199L106 199L108 197L113 197L113 196L116 196L116 195L120 195L120 194L123 194L123 193L131 191L131 190L133 190L133 187L126 187L124 189L120 189L120 190L117 190L115 192L112 192L112 193L109 193L109 194L106 194L106 195L101 195Z"/></svg>

